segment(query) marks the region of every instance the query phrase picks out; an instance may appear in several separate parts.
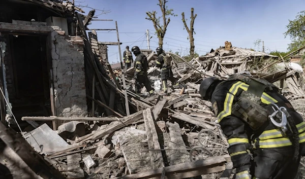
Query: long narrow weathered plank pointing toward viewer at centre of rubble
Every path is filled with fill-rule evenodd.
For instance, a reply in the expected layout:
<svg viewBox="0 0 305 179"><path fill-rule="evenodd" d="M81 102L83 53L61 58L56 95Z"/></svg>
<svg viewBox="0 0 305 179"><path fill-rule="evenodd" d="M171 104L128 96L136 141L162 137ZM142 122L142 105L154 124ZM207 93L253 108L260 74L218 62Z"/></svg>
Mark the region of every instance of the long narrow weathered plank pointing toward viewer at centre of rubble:
<svg viewBox="0 0 305 179"><path fill-rule="evenodd" d="M158 133L155 126L155 121L151 115L150 109L143 111L143 118L146 128L148 149L157 149L156 151L149 151L151 168L156 169L164 167L164 161L161 153L161 147L158 140Z"/></svg>

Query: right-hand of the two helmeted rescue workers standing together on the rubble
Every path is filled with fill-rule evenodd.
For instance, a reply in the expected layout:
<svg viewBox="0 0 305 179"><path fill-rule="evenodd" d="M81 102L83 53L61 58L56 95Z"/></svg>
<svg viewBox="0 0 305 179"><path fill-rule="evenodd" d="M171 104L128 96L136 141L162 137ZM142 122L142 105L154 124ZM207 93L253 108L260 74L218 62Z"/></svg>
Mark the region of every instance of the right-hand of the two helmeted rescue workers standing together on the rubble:
<svg viewBox="0 0 305 179"><path fill-rule="evenodd" d="M156 66L161 69L161 80L162 80L162 84L163 84L163 92L165 94L168 94L167 80L170 80L172 82L173 88L176 88L177 86L179 86L179 83L177 82L177 79L174 78L173 72L171 69L172 57L170 55L166 55L161 47L158 47L156 49L156 52L158 54Z"/></svg>

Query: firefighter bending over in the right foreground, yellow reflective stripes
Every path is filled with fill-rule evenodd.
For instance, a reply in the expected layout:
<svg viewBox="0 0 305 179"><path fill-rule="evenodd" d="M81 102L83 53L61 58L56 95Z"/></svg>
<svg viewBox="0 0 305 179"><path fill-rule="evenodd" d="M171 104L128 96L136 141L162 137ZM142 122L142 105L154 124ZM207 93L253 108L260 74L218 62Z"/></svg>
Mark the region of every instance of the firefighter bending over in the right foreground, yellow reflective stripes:
<svg viewBox="0 0 305 179"><path fill-rule="evenodd" d="M295 178L305 154L305 123L276 86L235 74L203 80L200 94L211 101L228 139L236 179Z"/></svg>

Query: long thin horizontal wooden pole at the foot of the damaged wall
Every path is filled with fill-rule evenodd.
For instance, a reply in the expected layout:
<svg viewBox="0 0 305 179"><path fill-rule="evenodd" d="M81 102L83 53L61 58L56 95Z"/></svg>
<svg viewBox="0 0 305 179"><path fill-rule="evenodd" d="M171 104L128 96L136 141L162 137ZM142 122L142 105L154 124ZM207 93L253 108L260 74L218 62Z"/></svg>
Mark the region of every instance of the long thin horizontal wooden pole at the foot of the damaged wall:
<svg viewBox="0 0 305 179"><path fill-rule="evenodd" d="M24 116L21 118L22 121L103 121L103 122L111 122L117 121L114 117L103 117L103 118L95 118L95 117L28 117Z"/></svg>

